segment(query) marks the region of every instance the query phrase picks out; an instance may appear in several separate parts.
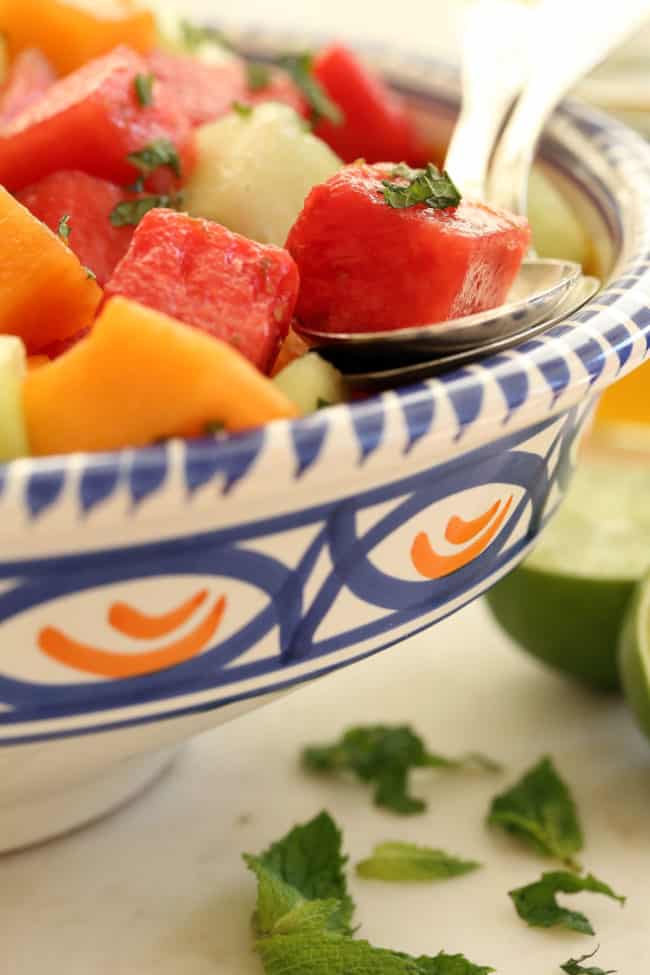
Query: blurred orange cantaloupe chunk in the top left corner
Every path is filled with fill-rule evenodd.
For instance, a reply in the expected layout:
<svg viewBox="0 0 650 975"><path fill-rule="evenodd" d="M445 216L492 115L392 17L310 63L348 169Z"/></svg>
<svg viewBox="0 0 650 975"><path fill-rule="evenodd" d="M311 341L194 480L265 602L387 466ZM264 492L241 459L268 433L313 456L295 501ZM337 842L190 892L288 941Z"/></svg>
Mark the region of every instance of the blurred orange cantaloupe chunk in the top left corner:
<svg viewBox="0 0 650 975"><path fill-rule="evenodd" d="M156 43L151 11L134 0L0 0L9 53L37 47L60 74L126 44L148 54Z"/></svg>

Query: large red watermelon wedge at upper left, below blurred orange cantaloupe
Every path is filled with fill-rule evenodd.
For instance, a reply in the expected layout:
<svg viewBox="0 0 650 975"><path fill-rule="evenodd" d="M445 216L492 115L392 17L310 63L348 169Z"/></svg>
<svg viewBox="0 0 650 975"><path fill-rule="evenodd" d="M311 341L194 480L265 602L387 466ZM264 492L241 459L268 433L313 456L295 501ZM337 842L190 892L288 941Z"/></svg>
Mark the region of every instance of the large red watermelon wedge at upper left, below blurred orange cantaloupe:
<svg viewBox="0 0 650 975"><path fill-rule="evenodd" d="M128 154L157 139L176 146L187 171L194 161L189 120L160 83L152 103L141 104L135 79L148 72L143 58L120 47L57 81L0 131L0 183L16 191L58 169L81 169L126 185L140 175ZM165 169L152 185L161 192L174 182Z"/></svg>

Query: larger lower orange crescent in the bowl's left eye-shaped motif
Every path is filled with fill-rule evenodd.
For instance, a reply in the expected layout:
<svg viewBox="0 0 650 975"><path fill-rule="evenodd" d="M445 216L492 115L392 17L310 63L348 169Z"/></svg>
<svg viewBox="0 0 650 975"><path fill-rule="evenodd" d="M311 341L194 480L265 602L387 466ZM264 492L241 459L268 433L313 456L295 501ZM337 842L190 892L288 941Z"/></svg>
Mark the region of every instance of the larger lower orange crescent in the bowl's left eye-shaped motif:
<svg viewBox="0 0 650 975"><path fill-rule="evenodd" d="M143 674L152 674L157 670L174 667L201 653L219 628L225 610L226 597L220 596L205 619L194 630L165 647L158 647L144 653L128 654L102 650L73 640L53 626L46 626L41 630L38 635L38 645L44 654L57 663L96 677L140 677Z"/></svg>

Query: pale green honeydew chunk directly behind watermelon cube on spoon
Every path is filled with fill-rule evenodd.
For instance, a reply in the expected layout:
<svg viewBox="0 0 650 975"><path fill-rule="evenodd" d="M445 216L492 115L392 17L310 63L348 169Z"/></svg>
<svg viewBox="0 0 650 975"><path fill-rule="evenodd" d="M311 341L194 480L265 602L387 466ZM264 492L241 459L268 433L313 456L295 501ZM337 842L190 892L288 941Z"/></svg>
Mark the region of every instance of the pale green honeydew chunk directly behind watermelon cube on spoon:
<svg viewBox="0 0 650 975"><path fill-rule="evenodd" d="M292 109L274 102L197 134L186 208L263 244L282 246L309 191L342 165Z"/></svg>

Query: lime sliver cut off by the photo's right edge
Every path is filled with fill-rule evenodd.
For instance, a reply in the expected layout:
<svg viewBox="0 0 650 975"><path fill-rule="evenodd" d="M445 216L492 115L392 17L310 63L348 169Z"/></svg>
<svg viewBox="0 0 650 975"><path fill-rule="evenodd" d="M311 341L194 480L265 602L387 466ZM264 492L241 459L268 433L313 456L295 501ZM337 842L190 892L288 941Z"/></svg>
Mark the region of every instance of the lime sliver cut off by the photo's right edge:
<svg viewBox="0 0 650 975"><path fill-rule="evenodd" d="M650 575L628 606L619 644L621 684L641 731L650 738Z"/></svg>

